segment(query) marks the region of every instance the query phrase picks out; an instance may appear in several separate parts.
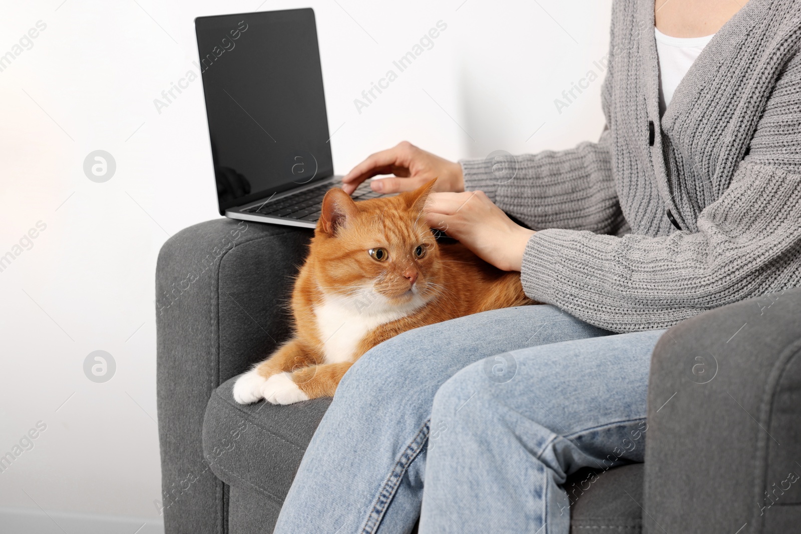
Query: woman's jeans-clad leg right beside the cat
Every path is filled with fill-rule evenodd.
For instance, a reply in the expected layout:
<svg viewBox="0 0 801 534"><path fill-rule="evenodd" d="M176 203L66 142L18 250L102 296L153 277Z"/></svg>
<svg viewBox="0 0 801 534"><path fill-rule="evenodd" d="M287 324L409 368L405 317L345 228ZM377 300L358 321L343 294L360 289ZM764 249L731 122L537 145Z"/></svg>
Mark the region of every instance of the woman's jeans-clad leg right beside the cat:
<svg viewBox="0 0 801 534"><path fill-rule="evenodd" d="M409 532L423 496L431 404L446 379L499 352L610 333L541 305L469 315L381 343L337 388L276 534ZM512 369L495 371L503 379Z"/></svg>

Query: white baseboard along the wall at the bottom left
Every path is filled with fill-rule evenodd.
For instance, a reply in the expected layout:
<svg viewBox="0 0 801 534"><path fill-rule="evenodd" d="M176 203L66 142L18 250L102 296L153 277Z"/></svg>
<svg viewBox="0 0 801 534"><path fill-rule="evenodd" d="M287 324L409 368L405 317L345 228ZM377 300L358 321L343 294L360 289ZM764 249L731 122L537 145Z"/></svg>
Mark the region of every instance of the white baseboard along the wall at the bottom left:
<svg viewBox="0 0 801 534"><path fill-rule="evenodd" d="M139 528L139 530L137 530ZM0 534L164 534L162 520L0 508Z"/></svg>

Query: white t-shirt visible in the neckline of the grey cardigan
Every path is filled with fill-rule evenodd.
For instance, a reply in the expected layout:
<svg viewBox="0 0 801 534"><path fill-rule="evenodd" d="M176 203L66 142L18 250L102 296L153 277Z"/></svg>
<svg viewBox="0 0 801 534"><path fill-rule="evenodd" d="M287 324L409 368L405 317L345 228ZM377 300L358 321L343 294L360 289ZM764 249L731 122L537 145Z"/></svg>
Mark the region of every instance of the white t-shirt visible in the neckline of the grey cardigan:
<svg viewBox="0 0 801 534"><path fill-rule="evenodd" d="M665 113L678 83L714 34L706 37L670 37L654 28L659 56L659 109Z"/></svg>

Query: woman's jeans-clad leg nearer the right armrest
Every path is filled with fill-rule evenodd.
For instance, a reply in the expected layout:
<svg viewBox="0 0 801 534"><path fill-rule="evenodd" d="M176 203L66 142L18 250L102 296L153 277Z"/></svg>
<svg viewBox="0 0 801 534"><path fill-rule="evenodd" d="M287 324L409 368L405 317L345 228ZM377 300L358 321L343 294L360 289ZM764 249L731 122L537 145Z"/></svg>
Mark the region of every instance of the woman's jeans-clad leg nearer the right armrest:
<svg viewBox="0 0 801 534"><path fill-rule="evenodd" d="M445 382L421 534L567 534L566 476L643 460L650 355L663 332L525 348L499 356L516 367L508 381L492 379L488 358Z"/></svg>

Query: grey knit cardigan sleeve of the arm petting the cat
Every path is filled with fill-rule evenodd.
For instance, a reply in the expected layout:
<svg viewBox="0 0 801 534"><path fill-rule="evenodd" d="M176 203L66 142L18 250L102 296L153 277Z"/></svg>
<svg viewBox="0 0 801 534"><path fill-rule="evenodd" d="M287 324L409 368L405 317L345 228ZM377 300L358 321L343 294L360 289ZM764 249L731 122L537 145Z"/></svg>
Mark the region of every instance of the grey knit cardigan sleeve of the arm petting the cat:
<svg viewBox="0 0 801 534"><path fill-rule="evenodd" d="M801 283L801 175L743 163L698 231L529 239L526 295L611 331L665 328L702 311Z"/></svg>

